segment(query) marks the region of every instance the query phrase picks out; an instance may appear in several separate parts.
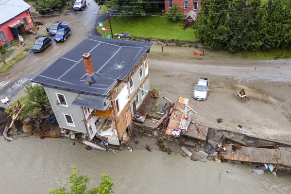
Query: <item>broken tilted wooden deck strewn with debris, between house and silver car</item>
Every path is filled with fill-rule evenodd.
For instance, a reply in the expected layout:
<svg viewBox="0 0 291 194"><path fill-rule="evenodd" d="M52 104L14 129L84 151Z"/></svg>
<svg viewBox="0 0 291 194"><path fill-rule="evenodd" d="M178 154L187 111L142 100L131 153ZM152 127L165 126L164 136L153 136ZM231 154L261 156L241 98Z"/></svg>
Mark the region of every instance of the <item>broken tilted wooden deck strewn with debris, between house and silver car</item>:
<svg viewBox="0 0 291 194"><path fill-rule="evenodd" d="M183 112L181 110L184 110L186 107L186 105L176 102L174 105L174 111L171 114L171 119L169 121L168 127L167 127L167 131L166 131L166 135L171 135L172 136L172 132L174 129L179 129L182 119L183 119ZM179 108L181 110L179 110ZM176 115L176 118L174 117L174 115ZM179 132L180 134L180 132Z"/></svg>

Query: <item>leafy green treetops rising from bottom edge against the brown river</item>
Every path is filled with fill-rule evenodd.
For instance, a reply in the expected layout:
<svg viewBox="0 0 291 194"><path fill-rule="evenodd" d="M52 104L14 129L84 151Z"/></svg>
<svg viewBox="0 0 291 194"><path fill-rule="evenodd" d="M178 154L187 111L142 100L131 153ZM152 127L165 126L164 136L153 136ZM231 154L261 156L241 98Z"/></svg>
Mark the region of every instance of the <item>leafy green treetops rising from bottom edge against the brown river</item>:
<svg viewBox="0 0 291 194"><path fill-rule="evenodd" d="M87 175L78 175L80 171L76 165L72 166L73 172L69 176L68 192L64 186L60 186L59 189L50 189L50 194L112 194L114 193L112 186L113 182L107 174L101 175L101 182L99 187L92 187L87 189L87 184L90 181Z"/></svg>

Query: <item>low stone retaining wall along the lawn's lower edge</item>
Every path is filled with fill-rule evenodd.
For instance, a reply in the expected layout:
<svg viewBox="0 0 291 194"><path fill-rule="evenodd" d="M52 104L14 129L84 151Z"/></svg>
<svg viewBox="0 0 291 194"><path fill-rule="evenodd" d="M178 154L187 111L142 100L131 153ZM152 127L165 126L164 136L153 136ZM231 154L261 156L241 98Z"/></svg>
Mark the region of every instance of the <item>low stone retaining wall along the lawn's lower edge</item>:
<svg viewBox="0 0 291 194"><path fill-rule="evenodd" d="M190 40L166 40L161 38L146 38L146 37L139 37L139 36L123 36L120 39L124 40L132 40L138 42L148 42L153 44L160 44L160 45L167 45L167 46L178 46L178 47L194 47L194 48L205 48L205 46L196 41Z"/></svg>

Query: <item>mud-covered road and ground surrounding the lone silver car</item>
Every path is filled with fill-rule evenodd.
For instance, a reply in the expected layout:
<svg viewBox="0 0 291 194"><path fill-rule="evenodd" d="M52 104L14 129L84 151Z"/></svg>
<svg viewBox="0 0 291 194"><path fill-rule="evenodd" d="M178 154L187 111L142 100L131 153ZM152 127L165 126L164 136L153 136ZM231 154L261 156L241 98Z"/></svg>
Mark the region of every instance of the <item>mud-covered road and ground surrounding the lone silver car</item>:
<svg viewBox="0 0 291 194"><path fill-rule="evenodd" d="M190 99L189 106L205 118L201 125L240 132L240 124L258 137L291 143L291 123L285 116L291 116L291 61L185 59L157 53L149 58L151 86L172 101ZM199 77L210 80L206 101L192 98ZM249 96L245 103L235 98L242 88ZM165 102L160 98L157 106ZM217 118L225 122L217 123Z"/></svg>

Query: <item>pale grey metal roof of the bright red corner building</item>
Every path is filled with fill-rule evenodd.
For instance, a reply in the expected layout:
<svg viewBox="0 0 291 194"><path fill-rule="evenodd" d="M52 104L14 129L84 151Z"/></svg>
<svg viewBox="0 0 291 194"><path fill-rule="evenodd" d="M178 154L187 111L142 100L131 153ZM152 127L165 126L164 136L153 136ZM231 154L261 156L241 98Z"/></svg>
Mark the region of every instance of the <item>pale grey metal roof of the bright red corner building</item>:
<svg viewBox="0 0 291 194"><path fill-rule="evenodd" d="M16 17L29 8L30 5L23 0L0 0L0 24ZM18 18L18 20L22 21L22 18Z"/></svg>

